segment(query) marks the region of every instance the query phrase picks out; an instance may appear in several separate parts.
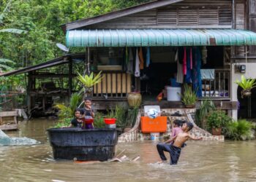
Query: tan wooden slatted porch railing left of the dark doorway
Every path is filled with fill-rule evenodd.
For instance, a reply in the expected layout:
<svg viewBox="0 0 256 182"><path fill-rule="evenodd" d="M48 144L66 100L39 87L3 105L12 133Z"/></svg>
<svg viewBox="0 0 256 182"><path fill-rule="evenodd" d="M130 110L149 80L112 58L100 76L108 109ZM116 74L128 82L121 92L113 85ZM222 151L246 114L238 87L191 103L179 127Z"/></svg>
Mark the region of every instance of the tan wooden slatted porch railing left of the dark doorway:
<svg viewBox="0 0 256 182"><path fill-rule="evenodd" d="M127 98L132 90L131 74L121 71L102 73L102 82L94 86L94 98Z"/></svg>

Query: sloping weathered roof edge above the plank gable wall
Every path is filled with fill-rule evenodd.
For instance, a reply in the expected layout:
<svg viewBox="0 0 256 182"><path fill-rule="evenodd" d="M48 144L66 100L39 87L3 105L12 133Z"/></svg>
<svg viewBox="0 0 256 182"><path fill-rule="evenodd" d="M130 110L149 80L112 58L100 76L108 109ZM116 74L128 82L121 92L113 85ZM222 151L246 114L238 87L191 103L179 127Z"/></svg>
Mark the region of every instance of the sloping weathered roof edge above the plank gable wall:
<svg viewBox="0 0 256 182"><path fill-rule="evenodd" d="M64 31L64 33L66 33L66 31L69 30L73 30L75 28L81 28L84 27L86 25L92 25L92 24L96 24L96 23L100 23L103 21L107 21L107 20L112 20L115 19L116 17L124 17L126 15L132 15L135 14L137 12L143 12L146 11L148 9L154 9L157 7L164 7L168 4L173 4L173 3L177 3L179 1L184 1L184 0L157 0L157 1L150 1L144 4L139 4L133 7L127 7L125 9L119 9L116 10L114 12L108 12L105 13L103 15L97 15L95 17L89 17L89 18L85 18L82 20L76 20L70 23L65 23L61 25L62 30Z"/></svg>

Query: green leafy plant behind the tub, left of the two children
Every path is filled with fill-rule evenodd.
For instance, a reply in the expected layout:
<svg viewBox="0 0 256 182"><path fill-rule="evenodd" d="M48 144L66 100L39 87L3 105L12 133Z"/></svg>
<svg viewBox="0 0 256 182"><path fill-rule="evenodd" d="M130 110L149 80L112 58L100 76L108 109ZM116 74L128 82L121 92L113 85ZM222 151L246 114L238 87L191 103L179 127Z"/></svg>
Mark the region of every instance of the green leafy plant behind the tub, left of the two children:
<svg viewBox="0 0 256 182"><path fill-rule="evenodd" d="M79 93L73 93L71 95L69 105L57 104L56 108L59 108L59 119L62 121L66 118L72 118L75 114L75 109L78 108L78 105L81 100L81 95Z"/></svg>

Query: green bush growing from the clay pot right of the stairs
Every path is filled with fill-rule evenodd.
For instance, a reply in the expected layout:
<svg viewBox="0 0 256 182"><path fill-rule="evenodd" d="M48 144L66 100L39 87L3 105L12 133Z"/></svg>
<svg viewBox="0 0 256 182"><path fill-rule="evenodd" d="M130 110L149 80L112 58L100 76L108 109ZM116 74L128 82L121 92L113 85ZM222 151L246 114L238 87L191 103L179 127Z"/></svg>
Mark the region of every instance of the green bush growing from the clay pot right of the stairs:
<svg viewBox="0 0 256 182"><path fill-rule="evenodd" d="M232 122L232 118L227 116L224 111L212 111L207 117L208 130L225 127L230 122Z"/></svg>

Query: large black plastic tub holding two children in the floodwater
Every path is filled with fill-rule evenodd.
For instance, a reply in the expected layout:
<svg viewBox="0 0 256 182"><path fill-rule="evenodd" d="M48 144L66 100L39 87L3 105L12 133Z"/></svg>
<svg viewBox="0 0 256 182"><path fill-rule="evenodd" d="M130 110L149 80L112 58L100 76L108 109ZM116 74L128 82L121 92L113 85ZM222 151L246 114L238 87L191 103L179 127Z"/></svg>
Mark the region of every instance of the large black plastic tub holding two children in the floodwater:
<svg viewBox="0 0 256 182"><path fill-rule="evenodd" d="M115 155L117 131L113 128L52 128L48 135L54 159L106 161Z"/></svg>

